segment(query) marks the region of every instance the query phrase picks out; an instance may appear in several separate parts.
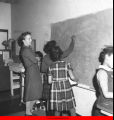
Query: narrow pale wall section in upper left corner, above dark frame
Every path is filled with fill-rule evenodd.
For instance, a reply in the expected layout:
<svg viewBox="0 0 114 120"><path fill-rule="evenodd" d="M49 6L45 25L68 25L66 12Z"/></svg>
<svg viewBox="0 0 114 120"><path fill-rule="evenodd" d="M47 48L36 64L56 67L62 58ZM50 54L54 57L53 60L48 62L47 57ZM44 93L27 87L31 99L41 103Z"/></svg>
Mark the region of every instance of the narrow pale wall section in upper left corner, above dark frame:
<svg viewBox="0 0 114 120"><path fill-rule="evenodd" d="M8 3L0 2L0 29L8 29L11 37L11 5Z"/></svg>

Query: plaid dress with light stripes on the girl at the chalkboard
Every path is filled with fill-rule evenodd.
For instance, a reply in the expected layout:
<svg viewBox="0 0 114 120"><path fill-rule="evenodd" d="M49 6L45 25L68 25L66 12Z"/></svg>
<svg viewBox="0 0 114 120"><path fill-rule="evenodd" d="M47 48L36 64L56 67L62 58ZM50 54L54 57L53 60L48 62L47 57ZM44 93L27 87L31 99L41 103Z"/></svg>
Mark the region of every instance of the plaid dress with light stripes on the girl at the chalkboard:
<svg viewBox="0 0 114 120"><path fill-rule="evenodd" d="M52 76L51 110L68 111L76 107L74 94L69 82L68 64L64 61L53 63L49 67L49 75Z"/></svg>

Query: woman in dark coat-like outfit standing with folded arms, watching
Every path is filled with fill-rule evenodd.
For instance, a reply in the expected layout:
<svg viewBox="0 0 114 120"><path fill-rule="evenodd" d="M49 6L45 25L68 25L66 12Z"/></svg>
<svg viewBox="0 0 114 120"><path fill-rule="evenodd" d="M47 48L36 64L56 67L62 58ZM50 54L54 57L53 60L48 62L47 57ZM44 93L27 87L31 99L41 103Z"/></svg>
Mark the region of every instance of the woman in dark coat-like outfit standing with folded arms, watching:
<svg viewBox="0 0 114 120"><path fill-rule="evenodd" d="M33 104L42 98L42 79L38 68L35 53L31 48L31 33L22 33L18 43L21 46L20 55L25 67L24 101L26 102L26 115L32 115Z"/></svg>

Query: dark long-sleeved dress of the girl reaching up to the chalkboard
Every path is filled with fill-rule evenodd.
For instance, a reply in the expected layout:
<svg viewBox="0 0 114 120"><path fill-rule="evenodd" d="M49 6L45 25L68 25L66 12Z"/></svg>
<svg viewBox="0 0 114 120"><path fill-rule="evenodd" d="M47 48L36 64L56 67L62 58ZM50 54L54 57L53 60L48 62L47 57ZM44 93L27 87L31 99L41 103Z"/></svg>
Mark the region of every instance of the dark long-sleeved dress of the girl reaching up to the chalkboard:
<svg viewBox="0 0 114 120"><path fill-rule="evenodd" d="M74 46L75 46L75 40L72 40L68 49L63 51L63 55L61 56L61 59L68 57L72 53ZM43 99L47 101L50 99L50 87L51 87L48 84L48 69L49 66L51 66L52 64L53 61L50 59L50 56L48 54L45 55L41 64L41 72L45 73L44 83L43 83Z"/></svg>

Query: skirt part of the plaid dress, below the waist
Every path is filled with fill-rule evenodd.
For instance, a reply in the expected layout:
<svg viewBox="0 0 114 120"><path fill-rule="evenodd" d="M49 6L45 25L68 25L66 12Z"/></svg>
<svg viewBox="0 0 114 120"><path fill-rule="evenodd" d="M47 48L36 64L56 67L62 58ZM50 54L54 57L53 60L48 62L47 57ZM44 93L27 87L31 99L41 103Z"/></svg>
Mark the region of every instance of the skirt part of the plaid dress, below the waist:
<svg viewBox="0 0 114 120"><path fill-rule="evenodd" d="M69 80L53 81L51 86L51 110L69 111L76 107L76 102Z"/></svg>

